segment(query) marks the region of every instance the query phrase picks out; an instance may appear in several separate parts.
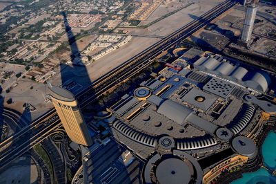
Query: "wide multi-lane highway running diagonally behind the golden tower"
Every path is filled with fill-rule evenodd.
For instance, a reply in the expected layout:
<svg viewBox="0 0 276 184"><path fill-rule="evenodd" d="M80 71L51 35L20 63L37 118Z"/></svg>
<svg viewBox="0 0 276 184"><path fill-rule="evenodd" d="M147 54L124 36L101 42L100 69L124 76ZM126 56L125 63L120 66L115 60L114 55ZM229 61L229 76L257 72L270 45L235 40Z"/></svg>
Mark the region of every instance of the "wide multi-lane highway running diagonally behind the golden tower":
<svg viewBox="0 0 276 184"><path fill-rule="evenodd" d="M177 45L177 43L190 35L193 35L197 30L209 24L210 21L219 17L219 15L235 6L235 4L236 3L233 1L224 1L199 17L199 19L191 21L188 25L168 35L168 37L150 46L138 55L135 55L110 73L103 75L103 77L100 77L92 85L88 86L87 89L84 89L76 95L80 107L86 107L86 105L99 98L99 96L108 91L108 89L146 68L146 66L153 62L155 57L165 50ZM0 168L3 168L12 160L18 158L21 154L41 142L41 140L46 138L52 130L58 127L61 127L61 121L55 109L51 109L40 118L37 118L37 120L34 120L29 126L23 128L17 134L14 134L14 136L1 142Z"/></svg>

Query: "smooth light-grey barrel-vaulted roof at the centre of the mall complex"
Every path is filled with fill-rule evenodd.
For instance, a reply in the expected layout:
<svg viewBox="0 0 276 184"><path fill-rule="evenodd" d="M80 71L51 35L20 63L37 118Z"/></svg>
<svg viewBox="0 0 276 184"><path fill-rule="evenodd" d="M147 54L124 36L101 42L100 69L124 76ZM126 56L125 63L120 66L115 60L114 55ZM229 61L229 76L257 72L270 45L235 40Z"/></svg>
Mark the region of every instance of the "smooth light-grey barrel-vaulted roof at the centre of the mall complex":
<svg viewBox="0 0 276 184"><path fill-rule="evenodd" d="M165 100L157 109L157 113L161 113L170 120L174 120L179 125L182 125L193 111L172 100Z"/></svg>

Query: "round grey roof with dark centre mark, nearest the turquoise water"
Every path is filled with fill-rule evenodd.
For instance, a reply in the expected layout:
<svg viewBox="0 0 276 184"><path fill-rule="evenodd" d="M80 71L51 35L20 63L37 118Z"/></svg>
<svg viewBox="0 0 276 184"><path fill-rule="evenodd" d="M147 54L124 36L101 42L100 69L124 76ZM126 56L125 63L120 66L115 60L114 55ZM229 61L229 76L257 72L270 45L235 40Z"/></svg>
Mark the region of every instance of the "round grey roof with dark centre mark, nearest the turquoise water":
<svg viewBox="0 0 276 184"><path fill-rule="evenodd" d="M248 137L238 136L233 139L232 147L242 156L249 156L250 158L256 155L257 147L253 140Z"/></svg>

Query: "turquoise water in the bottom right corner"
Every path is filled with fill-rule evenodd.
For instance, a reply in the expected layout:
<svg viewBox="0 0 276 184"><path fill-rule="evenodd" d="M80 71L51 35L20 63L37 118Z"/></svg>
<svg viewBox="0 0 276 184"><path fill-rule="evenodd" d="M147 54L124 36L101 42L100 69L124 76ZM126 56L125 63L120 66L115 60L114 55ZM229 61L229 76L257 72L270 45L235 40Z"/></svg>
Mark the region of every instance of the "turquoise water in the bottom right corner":
<svg viewBox="0 0 276 184"><path fill-rule="evenodd" d="M276 169L276 133L270 131L264 144L262 145L262 155L264 157L264 165L270 169ZM242 178L233 181L231 184L276 184L276 176L272 176L264 168L260 168L257 172L242 174Z"/></svg>

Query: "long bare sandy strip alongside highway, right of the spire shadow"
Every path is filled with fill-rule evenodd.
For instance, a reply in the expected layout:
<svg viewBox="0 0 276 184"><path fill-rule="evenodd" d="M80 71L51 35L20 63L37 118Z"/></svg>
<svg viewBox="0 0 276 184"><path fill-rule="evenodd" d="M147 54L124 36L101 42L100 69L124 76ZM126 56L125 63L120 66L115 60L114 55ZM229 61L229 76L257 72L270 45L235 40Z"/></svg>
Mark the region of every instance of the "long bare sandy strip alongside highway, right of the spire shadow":
<svg viewBox="0 0 276 184"><path fill-rule="evenodd" d="M216 3L211 2L211 5L208 5L209 1L201 2L204 3L195 3L188 8L184 8L174 15L153 24L147 29L126 29L129 31L130 35L140 35L141 37L132 37L131 42L128 44L113 51L109 55L101 57L101 59L97 60L94 64L87 66L90 80L96 80L101 75L108 73L112 68L126 62L127 59L130 59L145 48L148 48L148 46L158 42L160 39L155 36L166 37L175 30L185 26L188 22L193 21L193 17L189 15L200 16L221 1L215 1ZM151 16L153 15L154 14Z"/></svg>

